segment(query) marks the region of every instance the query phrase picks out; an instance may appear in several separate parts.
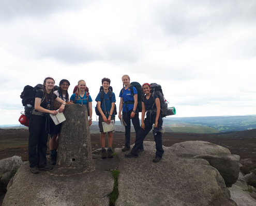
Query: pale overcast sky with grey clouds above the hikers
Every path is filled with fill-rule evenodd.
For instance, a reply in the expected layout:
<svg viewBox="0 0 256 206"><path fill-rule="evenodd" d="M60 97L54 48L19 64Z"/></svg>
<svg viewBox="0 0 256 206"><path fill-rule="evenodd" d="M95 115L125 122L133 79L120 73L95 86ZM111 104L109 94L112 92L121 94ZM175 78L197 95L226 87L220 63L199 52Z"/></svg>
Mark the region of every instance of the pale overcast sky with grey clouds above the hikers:
<svg viewBox="0 0 256 206"><path fill-rule="evenodd" d="M256 114L255 65L255 1L0 1L0 125L48 76L70 94L84 79L93 107L108 77L118 108L128 74L161 84L177 117Z"/></svg>

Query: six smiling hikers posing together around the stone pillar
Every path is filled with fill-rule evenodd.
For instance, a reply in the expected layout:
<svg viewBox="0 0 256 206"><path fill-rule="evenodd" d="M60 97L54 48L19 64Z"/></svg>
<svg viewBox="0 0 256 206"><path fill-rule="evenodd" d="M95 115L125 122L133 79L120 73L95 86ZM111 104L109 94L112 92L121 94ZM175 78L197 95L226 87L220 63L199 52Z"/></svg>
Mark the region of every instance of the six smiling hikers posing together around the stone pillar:
<svg viewBox="0 0 256 206"><path fill-rule="evenodd" d="M97 108L96 113L99 115L100 145L101 158L113 158L112 143L113 132L108 132L108 149L105 148L105 134L103 132L102 123L110 124L115 121L115 94L110 87L111 80L103 78L101 80L102 87L96 97ZM162 134L159 132L162 128L162 113L159 97L152 95L150 84L144 83L141 90L143 91L142 119L140 125L138 110L138 91L135 87L130 87L130 77L124 75L122 77L123 88L119 93L120 104L118 118L123 118L125 126L125 146L122 151L131 150L126 153L126 158L137 158L138 153L144 151L143 140L154 124L154 139L156 143L156 155L153 162L159 162L163 155ZM55 125L48 114L56 115L63 112L67 104L87 105L89 126L92 125L92 97L87 92L86 82L79 80L76 86L77 90L69 97L69 81L63 79L59 82L59 90L54 91L55 81L51 77L47 77L43 81L43 89L38 90L35 96L35 106L29 119L29 141L28 141L28 160L29 167L34 174L38 174L39 170L50 170L52 165L56 164L57 148L59 142L59 133L61 124ZM58 111L56 111L58 110ZM145 117L146 114L146 117ZM130 148L130 129L131 122L135 129L136 138L135 145ZM47 142L48 134L50 134L50 164L47 163Z"/></svg>

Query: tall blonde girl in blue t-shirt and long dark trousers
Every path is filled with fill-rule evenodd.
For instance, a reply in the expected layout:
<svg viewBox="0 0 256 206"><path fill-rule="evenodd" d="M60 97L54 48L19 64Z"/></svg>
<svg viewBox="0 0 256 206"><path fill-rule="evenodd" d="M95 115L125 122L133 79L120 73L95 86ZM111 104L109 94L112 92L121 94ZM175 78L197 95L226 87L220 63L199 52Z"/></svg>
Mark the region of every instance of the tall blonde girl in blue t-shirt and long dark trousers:
<svg viewBox="0 0 256 206"><path fill-rule="evenodd" d="M130 138L131 138L131 122L135 129L135 133L137 133L141 126L140 126L140 119L139 119L139 110L137 108L138 105L138 92L135 87L132 88L133 96L131 93L130 88L130 77L128 75L124 75L122 77L123 81L123 89L121 90L119 97L121 97L120 104L119 104L119 119L123 116L123 119L127 126L125 126L125 147L122 151L130 150ZM123 110L123 113L121 114ZM139 149L140 151L144 151L143 145Z"/></svg>

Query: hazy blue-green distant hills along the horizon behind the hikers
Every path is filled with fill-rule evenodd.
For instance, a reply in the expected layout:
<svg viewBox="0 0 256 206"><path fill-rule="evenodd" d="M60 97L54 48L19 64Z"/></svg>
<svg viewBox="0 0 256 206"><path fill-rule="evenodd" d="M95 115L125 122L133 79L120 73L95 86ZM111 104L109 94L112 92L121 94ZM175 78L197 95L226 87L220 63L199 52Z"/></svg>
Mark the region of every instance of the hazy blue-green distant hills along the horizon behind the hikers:
<svg viewBox="0 0 256 206"><path fill-rule="evenodd" d="M163 118L166 132L218 133L256 129L256 115L248 116L205 116L205 117L167 117ZM116 117L116 131L125 131ZM0 125L0 128L26 128L20 125ZM99 133L98 122L93 121L91 133ZM131 124L131 132L134 128Z"/></svg>

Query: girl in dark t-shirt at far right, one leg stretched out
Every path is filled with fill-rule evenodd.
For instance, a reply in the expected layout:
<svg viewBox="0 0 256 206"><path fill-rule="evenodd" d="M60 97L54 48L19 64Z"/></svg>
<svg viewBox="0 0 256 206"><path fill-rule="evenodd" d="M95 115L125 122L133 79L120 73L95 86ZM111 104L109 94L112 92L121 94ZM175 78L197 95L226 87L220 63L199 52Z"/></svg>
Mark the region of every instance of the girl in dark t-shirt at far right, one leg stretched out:
<svg viewBox="0 0 256 206"><path fill-rule="evenodd" d="M162 133L159 130L162 129L162 114L160 107L159 97L155 94L155 101L150 93L150 84L144 83L142 85L143 92L145 96L142 98L142 118L141 118L141 129L136 134L135 145L133 146L130 153L126 154L126 158L138 158L138 150L143 144L143 140L150 130L152 130L152 125L155 124L153 134L156 143L156 156L153 162L159 162L162 159L163 147L162 147ZM154 106L154 107L153 107ZM152 108L153 107L153 108ZM147 111L147 113L146 113ZM146 113L146 118L144 121Z"/></svg>

